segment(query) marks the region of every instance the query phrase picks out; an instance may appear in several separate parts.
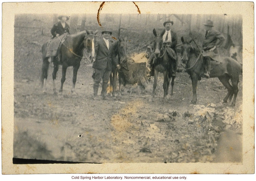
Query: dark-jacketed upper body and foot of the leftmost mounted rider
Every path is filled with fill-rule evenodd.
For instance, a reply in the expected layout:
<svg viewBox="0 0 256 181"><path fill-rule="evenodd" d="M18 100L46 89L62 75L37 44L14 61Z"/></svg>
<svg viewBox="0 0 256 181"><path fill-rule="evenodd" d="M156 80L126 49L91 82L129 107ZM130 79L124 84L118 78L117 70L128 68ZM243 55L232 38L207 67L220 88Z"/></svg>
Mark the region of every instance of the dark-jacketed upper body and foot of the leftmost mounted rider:
<svg viewBox="0 0 256 181"><path fill-rule="evenodd" d="M58 37L64 33L69 33L69 26L66 23L67 20L69 20L68 16L59 16L58 19L60 20L58 23L54 24L54 26L51 28L51 38ZM51 63L52 57L49 56L48 62Z"/></svg>

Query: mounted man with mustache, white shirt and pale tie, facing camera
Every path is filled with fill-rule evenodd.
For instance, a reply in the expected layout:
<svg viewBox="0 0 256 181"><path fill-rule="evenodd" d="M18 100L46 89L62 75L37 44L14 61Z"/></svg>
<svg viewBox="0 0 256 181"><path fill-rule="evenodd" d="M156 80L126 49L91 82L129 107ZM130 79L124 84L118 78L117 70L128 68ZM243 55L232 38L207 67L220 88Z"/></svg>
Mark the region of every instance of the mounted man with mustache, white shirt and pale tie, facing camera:
<svg viewBox="0 0 256 181"><path fill-rule="evenodd" d="M173 25L173 21L166 21L164 22L165 29L161 32L161 36L163 37L163 46L166 47L167 54L171 61L171 71L172 71L172 77L176 76L176 70L177 70L177 55L175 46L177 45L177 36L176 33L171 30L171 26ZM151 54L149 57L149 64L151 67L151 71L149 73L149 76L154 75L154 66L153 66L153 59L154 59L154 53Z"/></svg>

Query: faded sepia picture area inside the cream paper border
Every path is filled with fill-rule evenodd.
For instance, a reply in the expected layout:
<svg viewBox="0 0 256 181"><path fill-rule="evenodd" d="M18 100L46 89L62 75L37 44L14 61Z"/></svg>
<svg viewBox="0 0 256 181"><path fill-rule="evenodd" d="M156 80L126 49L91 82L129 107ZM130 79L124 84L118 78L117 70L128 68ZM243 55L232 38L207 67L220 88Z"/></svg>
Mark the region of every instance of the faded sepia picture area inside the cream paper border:
<svg viewBox="0 0 256 181"><path fill-rule="evenodd" d="M15 14L12 163L241 164L244 16L103 8Z"/></svg>

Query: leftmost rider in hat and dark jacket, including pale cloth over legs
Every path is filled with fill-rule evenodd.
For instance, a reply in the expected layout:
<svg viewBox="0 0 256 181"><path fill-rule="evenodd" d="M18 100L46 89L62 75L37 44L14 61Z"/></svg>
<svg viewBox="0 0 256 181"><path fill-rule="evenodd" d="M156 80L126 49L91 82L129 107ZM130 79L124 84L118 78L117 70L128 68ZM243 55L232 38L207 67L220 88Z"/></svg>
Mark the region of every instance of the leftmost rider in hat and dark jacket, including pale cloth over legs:
<svg viewBox="0 0 256 181"><path fill-rule="evenodd" d="M52 40L47 44L46 57L48 57L49 63L51 63L52 59L55 59L55 57L58 55L60 43L64 42L67 35L70 34L69 25L66 23L66 21L69 20L69 17L59 16L58 19L60 21L54 24L54 26L51 28Z"/></svg>

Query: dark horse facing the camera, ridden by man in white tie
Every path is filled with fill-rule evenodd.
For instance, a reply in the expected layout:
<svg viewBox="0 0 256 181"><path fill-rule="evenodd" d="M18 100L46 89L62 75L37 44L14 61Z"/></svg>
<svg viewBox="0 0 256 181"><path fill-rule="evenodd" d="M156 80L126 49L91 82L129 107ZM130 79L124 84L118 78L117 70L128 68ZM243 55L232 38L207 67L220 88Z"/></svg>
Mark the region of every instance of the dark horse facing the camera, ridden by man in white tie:
<svg viewBox="0 0 256 181"><path fill-rule="evenodd" d="M153 92L152 92L152 98L155 96L155 88L157 85L157 77L158 72L162 72L164 74L164 99L166 99L166 96L168 95L169 90L169 84L171 79L171 61L169 59L169 56L166 52L166 48L163 47L163 38L161 35L156 33L156 30L153 29L153 34L155 35L154 38L154 49L155 49L155 56L154 59L154 84L153 84ZM174 85L174 78L172 77L171 85L171 95L173 95L173 85Z"/></svg>

